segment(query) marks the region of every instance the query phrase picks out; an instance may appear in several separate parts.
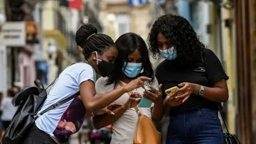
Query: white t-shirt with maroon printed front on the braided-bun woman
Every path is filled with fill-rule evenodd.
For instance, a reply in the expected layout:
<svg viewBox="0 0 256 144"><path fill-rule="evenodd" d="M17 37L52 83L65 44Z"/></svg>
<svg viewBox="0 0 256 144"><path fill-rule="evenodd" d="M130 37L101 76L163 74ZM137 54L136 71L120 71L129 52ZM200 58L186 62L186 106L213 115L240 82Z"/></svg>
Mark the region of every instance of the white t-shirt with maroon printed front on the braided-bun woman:
<svg viewBox="0 0 256 144"><path fill-rule="evenodd" d="M59 78L52 87L44 102L42 110L53 105L53 103L67 98L69 95L79 91L79 85L87 80L95 82L95 71L87 63L76 63L67 67L59 75ZM81 128L84 122L86 109L81 96L64 103L63 105L47 111L47 113L36 119L38 129L50 134L58 142L67 142L73 134L68 127L75 129L75 133Z"/></svg>

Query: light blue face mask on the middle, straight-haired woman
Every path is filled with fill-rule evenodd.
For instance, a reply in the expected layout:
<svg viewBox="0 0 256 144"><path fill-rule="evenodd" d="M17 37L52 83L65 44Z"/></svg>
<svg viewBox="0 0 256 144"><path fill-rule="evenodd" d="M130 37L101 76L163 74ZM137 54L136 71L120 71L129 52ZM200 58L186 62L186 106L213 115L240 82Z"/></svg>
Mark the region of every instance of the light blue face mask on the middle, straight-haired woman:
<svg viewBox="0 0 256 144"><path fill-rule="evenodd" d="M140 71L141 71L141 66L142 63L131 63L128 62L127 66L126 66L126 62L124 62L124 66L123 66L123 73L130 78L136 77L139 75ZM125 69L124 69L125 67Z"/></svg>

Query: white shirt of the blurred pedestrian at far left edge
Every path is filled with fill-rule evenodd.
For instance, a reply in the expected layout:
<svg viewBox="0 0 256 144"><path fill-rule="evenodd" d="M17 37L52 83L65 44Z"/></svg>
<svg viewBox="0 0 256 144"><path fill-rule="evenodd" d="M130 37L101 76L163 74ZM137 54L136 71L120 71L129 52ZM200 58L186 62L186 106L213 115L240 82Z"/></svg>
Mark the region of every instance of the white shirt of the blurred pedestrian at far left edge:
<svg viewBox="0 0 256 144"><path fill-rule="evenodd" d="M18 109L17 107L13 107L12 99L10 97L4 97L1 101L2 121L11 121Z"/></svg>

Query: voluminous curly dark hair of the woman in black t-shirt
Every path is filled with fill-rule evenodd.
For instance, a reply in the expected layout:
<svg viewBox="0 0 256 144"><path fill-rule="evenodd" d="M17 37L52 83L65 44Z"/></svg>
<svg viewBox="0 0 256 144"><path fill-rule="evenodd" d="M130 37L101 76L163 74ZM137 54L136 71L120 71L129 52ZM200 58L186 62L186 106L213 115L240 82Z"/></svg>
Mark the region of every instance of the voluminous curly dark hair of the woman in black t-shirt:
<svg viewBox="0 0 256 144"><path fill-rule="evenodd" d="M157 35L161 33L171 42L177 50L177 59L181 63L194 63L201 60L201 52L205 45L199 40L194 28L183 17L166 14L159 17L148 36L150 55L156 59L159 49Z"/></svg>

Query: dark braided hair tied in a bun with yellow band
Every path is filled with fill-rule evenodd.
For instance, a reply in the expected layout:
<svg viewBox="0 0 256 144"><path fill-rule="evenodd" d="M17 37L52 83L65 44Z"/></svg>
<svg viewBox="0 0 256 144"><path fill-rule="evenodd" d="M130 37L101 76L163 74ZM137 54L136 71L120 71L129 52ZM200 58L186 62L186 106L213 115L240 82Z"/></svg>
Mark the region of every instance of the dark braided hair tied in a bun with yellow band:
<svg viewBox="0 0 256 144"><path fill-rule="evenodd" d="M115 46L115 42L110 36L97 34L97 32L98 30L91 24L83 25L76 31L76 43L83 49L86 60L94 51L102 54L105 50Z"/></svg>

